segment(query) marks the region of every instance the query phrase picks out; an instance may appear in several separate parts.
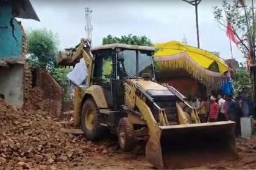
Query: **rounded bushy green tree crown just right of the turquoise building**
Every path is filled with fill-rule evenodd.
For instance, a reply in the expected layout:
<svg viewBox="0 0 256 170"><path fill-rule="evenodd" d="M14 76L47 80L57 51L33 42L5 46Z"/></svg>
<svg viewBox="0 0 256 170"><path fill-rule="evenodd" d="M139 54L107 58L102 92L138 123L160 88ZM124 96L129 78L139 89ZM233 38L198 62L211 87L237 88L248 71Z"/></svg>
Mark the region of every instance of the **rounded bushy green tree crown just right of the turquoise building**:
<svg viewBox="0 0 256 170"><path fill-rule="evenodd" d="M57 61L58 35L51 30L37 29L27 32L28 62L32 67L52 70Z"/></svg>

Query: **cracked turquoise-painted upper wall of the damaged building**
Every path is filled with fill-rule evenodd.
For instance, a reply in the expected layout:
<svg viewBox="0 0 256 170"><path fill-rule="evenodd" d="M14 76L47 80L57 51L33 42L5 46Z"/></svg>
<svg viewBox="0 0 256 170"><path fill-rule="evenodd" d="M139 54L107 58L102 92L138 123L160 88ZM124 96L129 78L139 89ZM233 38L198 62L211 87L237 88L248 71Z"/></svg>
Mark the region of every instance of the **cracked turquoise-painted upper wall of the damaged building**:
<svg viewBox="0 0 256 170"><path fill-rule="evenodd" d="M18 21L12 18L12 6L0 6L0 60L22 56L23 32Z"/></svg>

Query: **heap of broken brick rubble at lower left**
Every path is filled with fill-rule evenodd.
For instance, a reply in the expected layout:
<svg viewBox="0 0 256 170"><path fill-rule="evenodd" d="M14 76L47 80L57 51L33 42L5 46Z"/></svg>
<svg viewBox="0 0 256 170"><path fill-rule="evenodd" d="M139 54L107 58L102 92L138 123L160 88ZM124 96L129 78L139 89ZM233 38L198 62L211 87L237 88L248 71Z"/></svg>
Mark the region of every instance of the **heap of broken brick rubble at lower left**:
<svg viewBox="0 0 256 170"><path fill-rule="evenodd" d="M0 166L5 169L74 168L93 155L111 156L116 148L64 134L62 124L46 112L18 109L1 99L0 120Z"/></svg>

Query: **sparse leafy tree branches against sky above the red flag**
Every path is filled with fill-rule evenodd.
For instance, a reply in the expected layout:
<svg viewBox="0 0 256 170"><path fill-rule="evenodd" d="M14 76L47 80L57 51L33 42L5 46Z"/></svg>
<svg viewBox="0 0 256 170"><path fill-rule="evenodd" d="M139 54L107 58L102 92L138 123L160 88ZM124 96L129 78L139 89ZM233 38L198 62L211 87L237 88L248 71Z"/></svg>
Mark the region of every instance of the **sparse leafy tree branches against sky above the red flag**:
<svg viewBox="0 0 256 170"><path fill-rule="evenodd" d="M222 7L213 7L213 15L215 17L215 20L222 26L222 28L225 28L225 31L227 21L230 21L233 30L235 30L236 37L242 42L241 44L239 44L238 48L243 53L247 53L250 49L250 46L247 42L248 33L252 31L255 34L255 29L252 29L252 25L254 25L254 19L252 15L253 9L252 7L249 7L249 4L247 5L247 17L244 13L244 8L238 7L240 5L238 4L237 0L231 3L227 1L222 1ZM249 27L247 27L246 18L249 21Z"/></svg>

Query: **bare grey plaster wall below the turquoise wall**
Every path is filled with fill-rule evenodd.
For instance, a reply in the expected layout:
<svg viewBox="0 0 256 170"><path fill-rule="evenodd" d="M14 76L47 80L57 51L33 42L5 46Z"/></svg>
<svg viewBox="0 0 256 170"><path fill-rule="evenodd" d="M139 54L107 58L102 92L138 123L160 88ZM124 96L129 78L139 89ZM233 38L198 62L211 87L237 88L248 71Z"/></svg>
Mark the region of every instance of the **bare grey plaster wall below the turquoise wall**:
<svg viewBox="0 0 256 170"><path fill-rule="evenodd" d="M4 94L5 101L22 107L24 64L11 64L9 67L0 67L0 94Z"/></svg>

